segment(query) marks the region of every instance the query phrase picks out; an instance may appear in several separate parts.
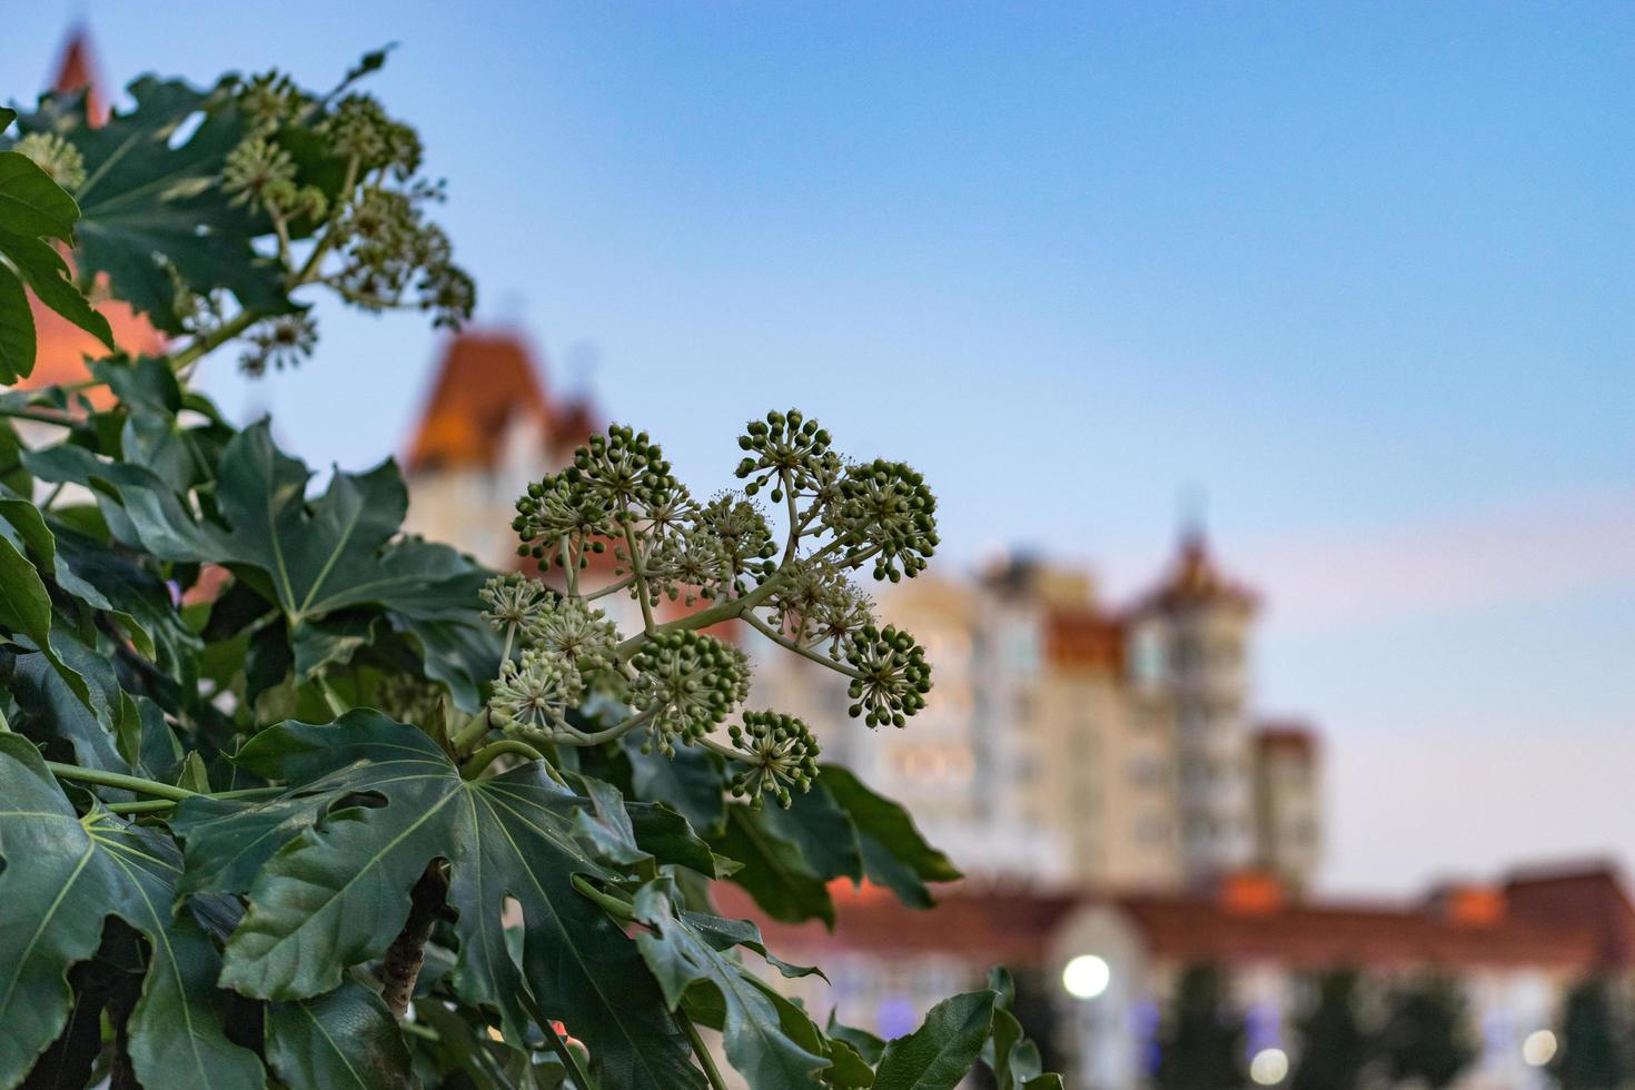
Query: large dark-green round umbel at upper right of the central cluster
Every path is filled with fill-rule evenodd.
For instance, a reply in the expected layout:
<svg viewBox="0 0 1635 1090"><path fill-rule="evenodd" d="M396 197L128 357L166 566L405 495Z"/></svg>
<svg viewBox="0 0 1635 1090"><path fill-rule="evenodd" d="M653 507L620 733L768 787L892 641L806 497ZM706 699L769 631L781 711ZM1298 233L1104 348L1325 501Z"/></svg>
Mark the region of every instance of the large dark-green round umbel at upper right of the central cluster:
<svg viewBox="0 0 1635 1090"><path fill-rule="evenodd" d="M849 466L837 492L826 521L834 533L852 539L847 557L878 549L875 579L893 583L925 569L937 551L937 497L919 472L875 459Z"/></svg>

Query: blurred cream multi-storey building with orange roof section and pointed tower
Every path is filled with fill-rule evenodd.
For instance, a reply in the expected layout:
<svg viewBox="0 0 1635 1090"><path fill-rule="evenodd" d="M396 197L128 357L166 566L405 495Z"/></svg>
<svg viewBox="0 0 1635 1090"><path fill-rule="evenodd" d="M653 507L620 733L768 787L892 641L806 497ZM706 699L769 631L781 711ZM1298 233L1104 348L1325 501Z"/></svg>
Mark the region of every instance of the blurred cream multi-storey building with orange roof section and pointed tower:
<svg viewBox="0 0 1635 1090"><path fill-rule="evenodd" d="M845 714L837 678L768 654L757 699L899 799L968 874L1115 889L1203 886L1244 866L1303 889L1321 858L1318 739L1249 699L1256 598L1202 533L1115 610L1082 570L1033 561L888 588L934 688L903 730Z"/></svg>

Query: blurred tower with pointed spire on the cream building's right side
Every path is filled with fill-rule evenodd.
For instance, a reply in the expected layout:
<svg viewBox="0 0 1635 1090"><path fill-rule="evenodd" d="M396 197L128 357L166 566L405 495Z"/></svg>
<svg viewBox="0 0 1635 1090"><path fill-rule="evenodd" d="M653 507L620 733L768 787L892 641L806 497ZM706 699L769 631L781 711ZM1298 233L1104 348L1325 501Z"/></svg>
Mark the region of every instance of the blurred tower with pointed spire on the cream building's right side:
<svg viewBox="0 0 1635 1090"><path fill-rule="evenodd" d="M1174 732L1182 873L1207 884L1254 858L1248 637L1256 596L1215 565L1200 529L1130 616L1133 675Z"/></svg>

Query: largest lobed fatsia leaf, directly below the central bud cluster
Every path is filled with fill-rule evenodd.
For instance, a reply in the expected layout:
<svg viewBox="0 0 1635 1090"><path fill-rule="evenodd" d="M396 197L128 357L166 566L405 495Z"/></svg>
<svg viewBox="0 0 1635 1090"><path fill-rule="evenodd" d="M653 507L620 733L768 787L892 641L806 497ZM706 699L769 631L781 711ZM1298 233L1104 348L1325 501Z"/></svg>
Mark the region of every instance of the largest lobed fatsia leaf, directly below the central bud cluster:
<svg viewBox="0 0 1635 1090"><path fill-rule="evenodd" d="M240 807L188 799L175 825L188 889L249 891L222 984L278 1000L330 990L347 966L386 951L410 887L446 860L463 998L497 1010L513 1039L535 1007L562 1020L602 1085L701 1085L634 943L572 886L576 874L611 881L623 869L577 820L590 801L543 765L468 781L425 734L374 711L271 727L237 762L289 791ZM628 842L618 855L643 853ZM507 897L523 915L520 966L502 927Z"/></svg>

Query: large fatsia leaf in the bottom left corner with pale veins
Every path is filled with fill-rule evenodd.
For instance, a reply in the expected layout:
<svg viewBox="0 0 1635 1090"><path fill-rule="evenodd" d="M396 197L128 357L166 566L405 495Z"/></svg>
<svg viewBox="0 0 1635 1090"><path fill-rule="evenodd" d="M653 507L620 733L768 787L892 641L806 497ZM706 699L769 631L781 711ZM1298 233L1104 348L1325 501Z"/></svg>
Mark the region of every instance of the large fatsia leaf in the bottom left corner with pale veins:
<svg viewBox="0 0 1635 1090"><path fill-rule="evenodd" d="M219 958L190 917L173 917L175 848L96 807L75 814L34 747L0 734L0 1085L15 1085L57 1036L70 966L90 958L103 918L147 936L131 1062L144 1085L262 1087L262 1062L227 1039L214 989Z"/></svg>

